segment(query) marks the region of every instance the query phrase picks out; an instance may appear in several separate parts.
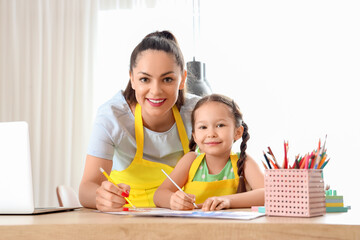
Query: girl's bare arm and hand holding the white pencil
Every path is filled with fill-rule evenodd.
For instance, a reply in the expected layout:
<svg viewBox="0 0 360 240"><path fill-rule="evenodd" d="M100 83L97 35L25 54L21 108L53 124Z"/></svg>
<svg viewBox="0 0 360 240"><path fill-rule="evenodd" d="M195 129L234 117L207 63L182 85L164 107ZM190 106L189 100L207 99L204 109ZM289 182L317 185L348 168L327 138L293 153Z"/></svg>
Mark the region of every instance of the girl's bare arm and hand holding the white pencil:
<svg viewBox="0 0 360 240"><path fill-rule="evenodd" d="M196 158L195 152L185 154L176 164L170 177L182 188L188 179L192 162ZM190 210L194 208L195 196L185 194L166 178L154 194L154 203L158 207L171 208L176 210Z"/></svg>

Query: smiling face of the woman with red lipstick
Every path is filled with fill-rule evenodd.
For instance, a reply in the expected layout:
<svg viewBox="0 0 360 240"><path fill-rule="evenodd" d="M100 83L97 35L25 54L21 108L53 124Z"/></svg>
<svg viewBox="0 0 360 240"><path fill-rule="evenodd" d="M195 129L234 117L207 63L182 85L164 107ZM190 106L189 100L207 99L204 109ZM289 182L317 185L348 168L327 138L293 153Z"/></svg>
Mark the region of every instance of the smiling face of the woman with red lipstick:
<svg viewBox="0 0 360 240"><path fill-rule="evenodd" d="M168 113L177 101L179 89L185 85L182 72L173 55L159 50L140 53L130 71L131 86L143 115L160 117Z"/></svg>

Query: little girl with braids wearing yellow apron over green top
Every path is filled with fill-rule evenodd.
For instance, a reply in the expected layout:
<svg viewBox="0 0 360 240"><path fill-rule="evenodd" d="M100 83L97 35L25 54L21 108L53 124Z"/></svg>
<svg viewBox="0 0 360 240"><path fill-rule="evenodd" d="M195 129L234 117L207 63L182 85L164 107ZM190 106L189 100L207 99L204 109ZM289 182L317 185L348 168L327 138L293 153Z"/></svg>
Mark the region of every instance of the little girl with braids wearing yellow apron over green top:
<svg viewBox="0 0 360 240"><path fill-rule="evenodd" d="M191 123L192 151L170 174L186 194L166 179L155 192L155 205L191 210L195 202L205 211L263 205L264 175L245 152L249 133L237 104L219 94L206 96L195 105ZM240 154L233 154L241 137Z"/></svg>

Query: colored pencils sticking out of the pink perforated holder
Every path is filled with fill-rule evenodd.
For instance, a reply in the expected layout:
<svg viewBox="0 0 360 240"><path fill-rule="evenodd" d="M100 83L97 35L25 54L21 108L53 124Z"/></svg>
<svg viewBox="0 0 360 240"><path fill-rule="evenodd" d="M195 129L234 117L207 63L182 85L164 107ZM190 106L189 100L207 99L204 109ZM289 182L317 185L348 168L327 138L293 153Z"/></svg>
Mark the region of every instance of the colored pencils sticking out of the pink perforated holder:
<svg viewBox="0 0 360 240"><path fill-rule="evenodd" d="M326 154L326 136L323 146L321 146L321 140L319 139L319 144L317 149L313 150L311 153L307 153L304 156L300 156L298 154L295 157L294 164L291 166L289 165L289 159L288 159L288 152L289 152L289 142L284 141L284 162L283 165L280 166L278 161L275 158L274 153L271 151L271 148L268 147L268 152L266 155L265 152L263 152L266 164L262 162L264 167L266 169L323 169L326 164L329 162L329 159L327 158Z"/></svg>

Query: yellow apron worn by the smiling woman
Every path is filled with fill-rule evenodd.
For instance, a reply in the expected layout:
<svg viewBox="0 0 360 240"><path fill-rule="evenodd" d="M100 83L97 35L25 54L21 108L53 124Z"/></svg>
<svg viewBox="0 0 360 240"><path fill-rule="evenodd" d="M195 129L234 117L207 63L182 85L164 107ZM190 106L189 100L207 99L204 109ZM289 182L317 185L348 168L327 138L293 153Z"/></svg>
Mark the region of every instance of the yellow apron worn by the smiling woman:
<svg viewBox="0 0 360 240"><path fill-rule="evenodd" d="M180 141L184 149L184 154L189 152L189 139L187 137L184 123L181 119L178 108L174 105L172 108L176 126L180 136ZM151 162L143 159L144 150L144 127L141 116L141 106L136 104L135 107L135 139L136 139L136 154L134 160L128 168L122 171L111 171L110 177L118 184L125 183L130 185L129 200L136 207L154 207L153 196L156 189L165 180L166 176L161 172L164 169L166 173L170 174L173 167ZM125 205L129 207L130 205Z"/></svg>

